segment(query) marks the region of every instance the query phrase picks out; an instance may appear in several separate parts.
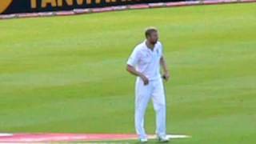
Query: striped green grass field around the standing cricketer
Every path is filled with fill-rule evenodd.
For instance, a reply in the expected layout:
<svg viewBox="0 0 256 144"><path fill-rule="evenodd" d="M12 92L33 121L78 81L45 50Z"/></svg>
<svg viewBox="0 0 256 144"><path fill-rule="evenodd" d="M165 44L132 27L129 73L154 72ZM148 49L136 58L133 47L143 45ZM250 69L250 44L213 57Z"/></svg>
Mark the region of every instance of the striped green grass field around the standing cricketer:
<svg viewBox="0 0 256 144"><path fill-rule="evenodd" d="M255 143L255 15L250 3L0 21L0 132L134 133L126 59L156 26L167 131L192 136L172 143ZM154 122L150 103L149 134Z"/></svg>

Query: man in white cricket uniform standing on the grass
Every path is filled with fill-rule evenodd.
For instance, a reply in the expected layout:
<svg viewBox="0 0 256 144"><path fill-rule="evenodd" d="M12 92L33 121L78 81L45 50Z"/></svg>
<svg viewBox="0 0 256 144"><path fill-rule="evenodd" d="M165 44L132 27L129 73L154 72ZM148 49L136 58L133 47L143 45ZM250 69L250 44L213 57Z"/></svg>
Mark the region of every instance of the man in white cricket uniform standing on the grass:
<svg viewBox="0 0 256 144"><path fill-rule="evenodd" d="M135 127L140 142L147 142L144 130L144 115L150 99L156 112L156 134L160 142L168 142L166 137L166 97L162 78L169 79L166 61L162 54L162 44L158 42L158 30L146 29L146 40L136 46L130 54L126 70L137 76L135 86ZM160 67L163 76L160 74Z"/></svg>

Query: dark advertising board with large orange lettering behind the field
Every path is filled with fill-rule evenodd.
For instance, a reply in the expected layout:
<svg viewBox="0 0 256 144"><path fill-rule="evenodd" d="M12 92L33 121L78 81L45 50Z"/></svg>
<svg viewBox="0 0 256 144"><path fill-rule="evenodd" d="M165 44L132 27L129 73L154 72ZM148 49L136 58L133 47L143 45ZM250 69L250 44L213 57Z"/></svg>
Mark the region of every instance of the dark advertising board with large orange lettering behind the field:
<svg viewBox="0 0 256 144"><path fill-rule="evenodd" d="M5 0L0 1L0 14L35 13L60 10L123 6L154 2L179 2L182 0Z"/></svg>

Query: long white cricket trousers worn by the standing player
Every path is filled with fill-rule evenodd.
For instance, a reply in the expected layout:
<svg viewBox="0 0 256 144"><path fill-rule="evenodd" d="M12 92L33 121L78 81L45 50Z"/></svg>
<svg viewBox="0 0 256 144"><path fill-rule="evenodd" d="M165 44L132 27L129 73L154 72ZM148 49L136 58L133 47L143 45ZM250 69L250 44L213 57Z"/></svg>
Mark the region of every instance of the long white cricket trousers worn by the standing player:
<svg viewBox="0 0 256 144"><path fill-rule="evenodd" d="M138 138L146 138L144 117L150 99L153 101L156 112L155 133L159 136L166 135L166 96L162 78L150 81L146 86L141 78L137 78L135 86L135 128Z"/></svg>

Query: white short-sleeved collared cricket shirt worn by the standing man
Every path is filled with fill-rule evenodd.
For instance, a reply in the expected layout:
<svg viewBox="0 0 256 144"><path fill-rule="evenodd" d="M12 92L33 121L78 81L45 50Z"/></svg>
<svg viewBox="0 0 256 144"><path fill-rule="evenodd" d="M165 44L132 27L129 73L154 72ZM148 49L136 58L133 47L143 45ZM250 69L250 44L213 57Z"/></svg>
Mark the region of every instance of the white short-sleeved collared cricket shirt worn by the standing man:
<svg viewBox="0 0 256 144"><path fill-rule="evenodd" d="M154 45L154 49L151 50L146 46L145 40L134 48L127 64L134 66L136 70L144 74L150 81L161 78L160 58L162 57L162 49L161 42L157 42Z"/></svg>

